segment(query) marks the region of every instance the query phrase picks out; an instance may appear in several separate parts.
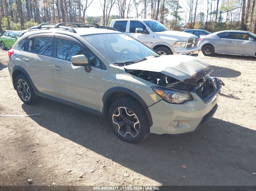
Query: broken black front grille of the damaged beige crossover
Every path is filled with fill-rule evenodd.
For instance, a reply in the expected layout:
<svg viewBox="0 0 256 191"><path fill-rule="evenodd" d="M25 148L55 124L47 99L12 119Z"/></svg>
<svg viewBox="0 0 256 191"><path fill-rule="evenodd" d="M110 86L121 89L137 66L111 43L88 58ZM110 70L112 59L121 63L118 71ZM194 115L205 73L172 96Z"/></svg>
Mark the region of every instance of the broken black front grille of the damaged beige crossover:
<svg viewBox="0 0 256 191"><path fill-rule="evenodd" d="M214 92L216 87L215 87L214 82L212 81L211 78L208 78L205 81L202 78L199 81L201 81L201 82L198 83L198 87L196 87L195 93L199 97L201 97L202 100L204 100Z"/></svg>

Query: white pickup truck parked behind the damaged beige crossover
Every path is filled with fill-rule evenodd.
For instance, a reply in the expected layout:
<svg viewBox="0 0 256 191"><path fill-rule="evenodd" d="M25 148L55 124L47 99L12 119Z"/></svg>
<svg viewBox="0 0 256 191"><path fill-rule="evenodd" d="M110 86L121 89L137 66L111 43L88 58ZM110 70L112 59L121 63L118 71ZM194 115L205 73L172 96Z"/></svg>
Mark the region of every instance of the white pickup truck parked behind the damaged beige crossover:
<svg viewBox="0 0 256 191"><path fill-rule="evenodd" d="M191 33L169 30L152 19L114 19L110 27L144 43L158 53L198 56L198 37Z"/></svg>

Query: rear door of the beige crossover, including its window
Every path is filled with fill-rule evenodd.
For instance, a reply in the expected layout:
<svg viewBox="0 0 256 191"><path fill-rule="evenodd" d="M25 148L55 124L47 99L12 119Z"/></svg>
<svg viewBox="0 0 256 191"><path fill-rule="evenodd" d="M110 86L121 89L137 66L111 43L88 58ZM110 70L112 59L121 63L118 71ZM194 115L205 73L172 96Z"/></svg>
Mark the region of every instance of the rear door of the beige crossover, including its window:
<svg viewBox="0 0 256 191"><path fill-rule="evenodd" d="M52 81L54 34L35 34L28 38L21 63L38 91L55 95Z"/></svg>

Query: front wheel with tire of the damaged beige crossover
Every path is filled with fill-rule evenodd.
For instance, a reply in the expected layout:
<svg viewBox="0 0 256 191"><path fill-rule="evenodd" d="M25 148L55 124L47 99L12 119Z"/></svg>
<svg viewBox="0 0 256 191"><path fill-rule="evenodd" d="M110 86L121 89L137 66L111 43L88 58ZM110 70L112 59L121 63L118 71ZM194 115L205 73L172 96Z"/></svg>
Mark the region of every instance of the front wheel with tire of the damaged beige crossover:
<svg viewBox="0 0 256 191"><path fill-rule="evenodd" d="M150 134L143 107L133 98L116 100L108 110L108 121L114 133L128 143L139 143Z"/></svg>

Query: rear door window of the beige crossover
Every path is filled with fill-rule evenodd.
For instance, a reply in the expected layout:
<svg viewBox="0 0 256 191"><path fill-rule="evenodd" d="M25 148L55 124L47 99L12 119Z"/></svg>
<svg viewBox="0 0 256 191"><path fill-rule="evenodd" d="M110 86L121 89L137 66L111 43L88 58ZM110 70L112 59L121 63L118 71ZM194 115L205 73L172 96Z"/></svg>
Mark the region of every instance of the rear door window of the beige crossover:
<svg viewBox="0 0 256 191"><path fill-rule="evenodd" d="M29 39L26 50L29 52L51 56L52 55L52 39L53 38L43 38L43 37Z"/></svg>

